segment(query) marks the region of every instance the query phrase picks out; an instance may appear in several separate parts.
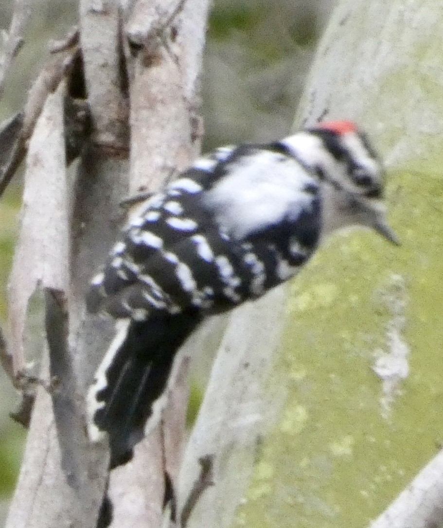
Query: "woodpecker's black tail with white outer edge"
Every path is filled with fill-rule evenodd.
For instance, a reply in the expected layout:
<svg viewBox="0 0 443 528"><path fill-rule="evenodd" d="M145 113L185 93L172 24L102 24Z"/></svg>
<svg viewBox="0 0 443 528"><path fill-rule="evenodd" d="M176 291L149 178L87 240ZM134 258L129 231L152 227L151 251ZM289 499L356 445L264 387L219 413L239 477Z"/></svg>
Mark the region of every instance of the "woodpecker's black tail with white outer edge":
<svg viewBox="0 0 443 528"><path fill-rule="evenodd" d="M194 313L121 320L88 393L89 436L109 435L111 467L131 459L154 402L162 395L174 356L199 323Z"/></svg>

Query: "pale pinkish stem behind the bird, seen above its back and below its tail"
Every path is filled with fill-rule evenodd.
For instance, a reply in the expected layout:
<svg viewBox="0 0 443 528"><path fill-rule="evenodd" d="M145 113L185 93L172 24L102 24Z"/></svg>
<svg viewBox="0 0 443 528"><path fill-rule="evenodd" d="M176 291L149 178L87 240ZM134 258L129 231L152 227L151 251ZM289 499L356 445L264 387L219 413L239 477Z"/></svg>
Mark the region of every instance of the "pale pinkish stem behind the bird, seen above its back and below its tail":
<svg viewBox="0 0 443 528"><path fill-rule="evenodd" d="M199 14L192 35L186 33L191 21L184 18L183 6L188 4L193 8L186 16ZM199 150L192 132L196 102L193 101L191 109L189 101L199 91L196 72L201 68L207 10L208 2L196 0L173 2L167 7L161 1L140 0L130 13L124 34L130 72L130 194L159 190ZM191 50L191 56L185 59ZM111 526L154 527L161 522L163 473L165 470L176 473L181 458L186 365L178 357L173 369L176 391L172 389L170 396L175 404L166 412L164 433L156 428L136 446L133 460L111 474L109 496L115 508ZM127 504L139 507L127 508Z"/></svg>

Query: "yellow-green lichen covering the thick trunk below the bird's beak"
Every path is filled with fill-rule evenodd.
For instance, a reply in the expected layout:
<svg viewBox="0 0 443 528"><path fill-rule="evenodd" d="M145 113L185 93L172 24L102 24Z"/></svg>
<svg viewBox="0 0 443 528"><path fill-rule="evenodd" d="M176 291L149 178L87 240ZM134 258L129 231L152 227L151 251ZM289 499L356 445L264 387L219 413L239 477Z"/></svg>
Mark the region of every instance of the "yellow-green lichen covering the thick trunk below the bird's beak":
<svg viewBox="0 0 443 528"><path fill-rule="evenodd" d="M234 526L364 526L441 444L443 176L391 174L388 195L401 247L340 235L289 286L269 380L288 398ZM387 395L374 369L401 346Z"/></svg>

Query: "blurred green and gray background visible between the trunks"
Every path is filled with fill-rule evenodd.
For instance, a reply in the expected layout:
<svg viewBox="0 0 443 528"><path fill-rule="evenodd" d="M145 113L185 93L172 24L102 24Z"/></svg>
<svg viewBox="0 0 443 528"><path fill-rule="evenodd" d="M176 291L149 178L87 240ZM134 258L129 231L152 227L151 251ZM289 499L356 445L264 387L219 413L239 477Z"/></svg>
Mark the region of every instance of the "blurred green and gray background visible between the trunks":
<svg viewBox="0 0 443 528"><path fill-rule="evenodd" d="M213 3L203 64L203 150L223 143L265 141L284 136L333 0L216 0ZM0 27L7 30L12 1L0 5ZM48 40L77 23L77 2L35 0L25 45L8 74L0 119L20 109L27 90L48 56ZM2 43L0 43L0 55ZM20 210L20 175L0 202L0 323L7 335L6 286ZM197 378L197 375L194 376ZM191 415L201 400L193 384ZM13 493L26 439L8 413L20 401L0 371L0 525Z"/></svg>

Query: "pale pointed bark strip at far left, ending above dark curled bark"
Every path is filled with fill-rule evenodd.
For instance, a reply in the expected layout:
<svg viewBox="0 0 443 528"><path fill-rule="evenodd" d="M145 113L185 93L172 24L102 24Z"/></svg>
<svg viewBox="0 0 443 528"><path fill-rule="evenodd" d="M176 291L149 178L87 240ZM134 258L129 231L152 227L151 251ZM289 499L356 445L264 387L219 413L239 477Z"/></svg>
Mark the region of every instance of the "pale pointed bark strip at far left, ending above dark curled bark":
<svg viewBox="0 0 443 528"><path fill-rule="evenodd" d="M61 88L46 101L30 142L26 163L24 215L8 292L15 373L26 369L23 350L25 320L34 290L42 285L63 291L68 284L63 95ZM58 248L56 255L54 247Z"/></svg>

